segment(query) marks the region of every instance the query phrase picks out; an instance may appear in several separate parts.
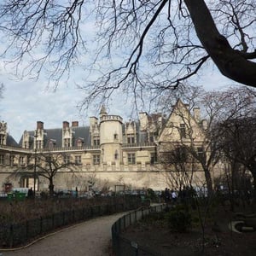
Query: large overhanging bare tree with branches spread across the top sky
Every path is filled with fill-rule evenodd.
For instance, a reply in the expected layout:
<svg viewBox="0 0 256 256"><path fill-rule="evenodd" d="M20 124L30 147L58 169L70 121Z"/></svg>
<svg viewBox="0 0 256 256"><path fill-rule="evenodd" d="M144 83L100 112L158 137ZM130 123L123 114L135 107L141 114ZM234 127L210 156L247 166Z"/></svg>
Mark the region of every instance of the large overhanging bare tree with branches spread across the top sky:
<svg viewBox="0 0 256 256"><path fill-rule="evenodd" d="M210 59L227 78L255 87L255 4L5 0L0 4L0 28L9 46L3 54L13 56L17 72L22 66L23 75L38 77L45 69L49 80L58 82L90 50L96 57L84 66L102 75L79 86L86 91L85 107L118 89L136 101L146 96L153 100L200 74ZM86 21L97 30L93 41L84 30Z"/></svg>

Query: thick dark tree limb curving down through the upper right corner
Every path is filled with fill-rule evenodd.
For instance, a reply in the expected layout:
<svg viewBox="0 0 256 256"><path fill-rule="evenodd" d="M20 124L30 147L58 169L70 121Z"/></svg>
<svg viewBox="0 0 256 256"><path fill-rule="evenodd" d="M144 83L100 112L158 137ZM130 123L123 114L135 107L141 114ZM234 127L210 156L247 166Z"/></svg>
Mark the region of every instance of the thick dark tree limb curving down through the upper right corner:
<svg viewBox="0 0 256 256"><path fill-rule="evenodd" d="M236 82L256 87L256 63L230 47L228 40L218 32L205 1L184 0L184 3L189 9L197 37L219 71Z"/></svg>

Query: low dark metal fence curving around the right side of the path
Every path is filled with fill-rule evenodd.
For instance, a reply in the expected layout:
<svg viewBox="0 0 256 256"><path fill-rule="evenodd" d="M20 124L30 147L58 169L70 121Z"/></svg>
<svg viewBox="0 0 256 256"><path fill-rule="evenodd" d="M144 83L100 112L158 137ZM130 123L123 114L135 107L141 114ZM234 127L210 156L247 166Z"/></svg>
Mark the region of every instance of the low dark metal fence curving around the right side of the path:
<svg viewBox="0 0 256 256"><path fill-rule="evenodd" d="M131 241L122 236L122 232L131 224L135 224L144 216L153 212L162 212L165 204L154 207L142 207L141 209L129 212L119 218L112 226L112 247L115 256L158 256L157 252L148 251L146 248L137 244L137 241Z"/></svg>

